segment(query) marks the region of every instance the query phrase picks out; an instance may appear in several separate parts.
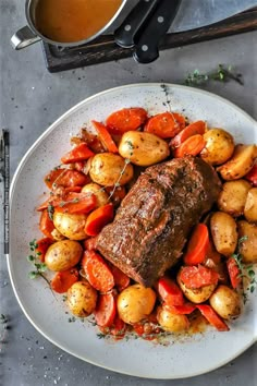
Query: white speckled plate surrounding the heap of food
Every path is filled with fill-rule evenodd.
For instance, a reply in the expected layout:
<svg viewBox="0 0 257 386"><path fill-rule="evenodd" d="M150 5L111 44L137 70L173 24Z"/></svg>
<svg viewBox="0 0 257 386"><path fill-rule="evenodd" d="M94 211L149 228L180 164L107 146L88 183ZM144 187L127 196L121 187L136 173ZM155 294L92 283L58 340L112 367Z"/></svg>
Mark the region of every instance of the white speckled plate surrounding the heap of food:
<svg viewBox="0 0 257 386"><path fill-rule="evenodd" d="M236 142L257 143L257 124L243 110L213 94L168 85L173 111L191 121L207 120L231 132ZM210 328L189 339L171 339L169 346L142 339L111 342L99 339L96 329L81 321L69 323L64 303L56 300L41 279L29 280L28 242L40 236L35 207L44 201L42 178L70 149L70 135L90 122L105 120L123 107L142 106L150 113L167 110L160 84L134 84L97 94L69 110L30 147L11 185L9 272L17 301L29 322L47 339L87 362L120 373L149 378L180 378L209 372L225 364L256 341L256 295L229 333ZM172 341L174 342L172 343Z"/></svg>

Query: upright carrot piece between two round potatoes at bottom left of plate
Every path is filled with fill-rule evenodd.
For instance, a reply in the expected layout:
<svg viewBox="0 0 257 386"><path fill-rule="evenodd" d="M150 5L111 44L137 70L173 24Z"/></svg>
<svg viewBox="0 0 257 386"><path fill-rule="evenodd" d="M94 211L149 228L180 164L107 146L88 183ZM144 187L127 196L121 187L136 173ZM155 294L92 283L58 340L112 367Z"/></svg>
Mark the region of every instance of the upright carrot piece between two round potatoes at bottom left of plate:
<svg viewBox="0 0 257 386"><path fill-rule="evenodd" d="M100 293L97 300L97 306L94 311L96 323L101 327L110 327L117 314L115 298L112 292Z"/></svg>

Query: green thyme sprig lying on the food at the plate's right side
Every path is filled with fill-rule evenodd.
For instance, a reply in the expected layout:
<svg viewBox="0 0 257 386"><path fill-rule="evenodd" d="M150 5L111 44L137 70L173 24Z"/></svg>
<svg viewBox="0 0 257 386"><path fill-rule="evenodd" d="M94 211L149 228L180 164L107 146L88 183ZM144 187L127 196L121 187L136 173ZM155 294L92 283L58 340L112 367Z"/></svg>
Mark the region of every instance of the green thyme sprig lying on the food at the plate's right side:
<svg viewBox="0 0 257 386"><path fill-rule="evenodd" d="M240 269L240 277L242 278L242 281L243 281L244 303L246 303L246 301L247 301L247 293L245 292L245 287L246 287L246 290L249 291L250 293L253 293L257 287L257 280L256 280L253 264L245 265L243 263L243 255L240 253L240 246L246 240L247 240L247 236L240 238L238 242L237 242L236 252L232 254L232 257L235 260L235 262L237 264L237 267ZM246 286L245 286L245 284L246 284Z"/></svg>

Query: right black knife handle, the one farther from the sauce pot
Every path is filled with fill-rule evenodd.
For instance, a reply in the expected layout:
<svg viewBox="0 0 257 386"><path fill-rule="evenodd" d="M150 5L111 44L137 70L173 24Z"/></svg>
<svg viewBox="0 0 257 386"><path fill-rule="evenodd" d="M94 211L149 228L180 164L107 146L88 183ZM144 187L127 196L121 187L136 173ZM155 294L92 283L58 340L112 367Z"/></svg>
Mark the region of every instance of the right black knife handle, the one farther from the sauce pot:
<svg viewBox="0 0 257 386"><path fill-rule="evenodd" d="M134 58L139 63L150 63L159 57L158 45L167 33L181 0L162 0L145 26L134 50Z"/></svg>

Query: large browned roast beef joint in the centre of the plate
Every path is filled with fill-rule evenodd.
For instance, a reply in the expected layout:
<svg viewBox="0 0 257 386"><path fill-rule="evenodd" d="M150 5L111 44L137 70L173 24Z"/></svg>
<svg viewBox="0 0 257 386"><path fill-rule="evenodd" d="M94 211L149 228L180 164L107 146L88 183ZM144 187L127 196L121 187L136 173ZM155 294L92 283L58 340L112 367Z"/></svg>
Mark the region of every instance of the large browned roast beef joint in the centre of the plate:
<svg viewBox="0 0 257 386"><path fill-rule="evenodd" d="M182 255L192 228L217 201L221 183L200 158L148 167L97 239L98 251L137 282L151 287Z"/></svg>

